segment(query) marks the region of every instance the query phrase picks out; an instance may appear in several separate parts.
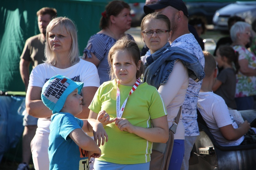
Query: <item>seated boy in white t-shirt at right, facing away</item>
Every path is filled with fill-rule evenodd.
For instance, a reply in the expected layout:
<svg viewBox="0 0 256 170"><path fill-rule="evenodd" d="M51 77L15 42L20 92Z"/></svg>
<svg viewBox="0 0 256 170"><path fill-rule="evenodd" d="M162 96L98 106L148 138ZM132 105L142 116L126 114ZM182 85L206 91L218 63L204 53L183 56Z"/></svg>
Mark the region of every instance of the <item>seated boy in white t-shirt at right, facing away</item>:
<svg viewBox="0 0 256 170"><path fill-rule="evenodd" d="M212 92L217 75L214 57L204 51L205 78L199 92L197 108L215 140L221 146L237 146L256 143L255 128L247 120L237 123L230 116L228 107L221 96Z"/></svg>

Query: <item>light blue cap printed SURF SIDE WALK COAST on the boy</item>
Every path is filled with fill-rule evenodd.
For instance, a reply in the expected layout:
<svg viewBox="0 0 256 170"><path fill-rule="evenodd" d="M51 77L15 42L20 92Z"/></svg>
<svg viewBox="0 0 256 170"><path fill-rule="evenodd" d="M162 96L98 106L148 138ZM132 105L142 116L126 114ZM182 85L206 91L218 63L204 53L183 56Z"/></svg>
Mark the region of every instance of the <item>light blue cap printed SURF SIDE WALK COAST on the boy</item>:
<svg viewBox="0 0 256 170"><path fill-rule="evenodd" d="M74 82L63 75L55 75L44 84L41 99L53 114L59 113L68 95L76 88L80 94L83 85L84 83Z"/></svg>

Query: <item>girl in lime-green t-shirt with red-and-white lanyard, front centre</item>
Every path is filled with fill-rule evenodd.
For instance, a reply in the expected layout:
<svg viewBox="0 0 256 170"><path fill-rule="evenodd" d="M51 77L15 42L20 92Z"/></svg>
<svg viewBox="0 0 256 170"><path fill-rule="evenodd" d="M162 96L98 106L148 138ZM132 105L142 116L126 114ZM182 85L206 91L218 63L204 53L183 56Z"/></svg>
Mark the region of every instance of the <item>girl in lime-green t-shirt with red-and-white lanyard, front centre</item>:
<svg viewBox="0 0 256 170"><path fill-rule="evenodd" d="M99 87L89 106L89 118L102 122L109 136L94 168L148 170L152 142L168 140L166 107L155 87L140 82L144 67L134 41L119 39L108 61L113 80Z"/></svg>

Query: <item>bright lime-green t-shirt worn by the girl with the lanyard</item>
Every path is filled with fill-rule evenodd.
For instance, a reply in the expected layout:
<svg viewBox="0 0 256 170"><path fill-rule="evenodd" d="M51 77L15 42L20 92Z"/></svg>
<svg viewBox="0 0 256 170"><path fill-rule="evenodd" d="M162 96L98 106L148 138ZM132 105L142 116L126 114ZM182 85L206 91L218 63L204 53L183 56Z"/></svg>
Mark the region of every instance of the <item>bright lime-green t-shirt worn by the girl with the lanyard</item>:
<svg viewBox="0 0 256 170"><path fill-rule="evenodd" d="M129 95L132 86L118 84L120 106ZM116 81L104 82L97 90L89 109L95 113L104 110L110 119L116 118ZM166 107L157 89L147 83L140 84L128 97L122 118L131 124L151 128L151 119L167 115ZM100 161L115 164L141 164L150 161L152 142L133 133L120 131L115 123L104 126L109 141L100 147Z"/></svg>

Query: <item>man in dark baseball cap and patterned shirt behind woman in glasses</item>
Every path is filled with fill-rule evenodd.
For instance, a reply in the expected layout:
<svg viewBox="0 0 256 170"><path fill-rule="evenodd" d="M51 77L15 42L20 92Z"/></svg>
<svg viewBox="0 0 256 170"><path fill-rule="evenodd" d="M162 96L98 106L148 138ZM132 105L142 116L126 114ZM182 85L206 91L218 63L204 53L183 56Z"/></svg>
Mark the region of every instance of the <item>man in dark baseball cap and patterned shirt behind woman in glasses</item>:
<svg viewBox="0 0 256 170"><path fill-rule="evenodd" d="M171 47L180 47L196 55L204 67L203 52L198 41L188 29L188 11L182 0L158 0L154 4L145 5L144 12L145 14L159 12L166 15L171 22ZM185 128L185 140L183 140L184 138L174 139L169 169L188 170L190 152L199 135L197 98L201 85L202 81L196 83L191 78L189 79L185 101L182 105L182 122ZM185 151L184 148L186 148Z"/></svg>

